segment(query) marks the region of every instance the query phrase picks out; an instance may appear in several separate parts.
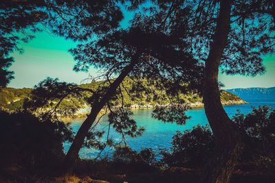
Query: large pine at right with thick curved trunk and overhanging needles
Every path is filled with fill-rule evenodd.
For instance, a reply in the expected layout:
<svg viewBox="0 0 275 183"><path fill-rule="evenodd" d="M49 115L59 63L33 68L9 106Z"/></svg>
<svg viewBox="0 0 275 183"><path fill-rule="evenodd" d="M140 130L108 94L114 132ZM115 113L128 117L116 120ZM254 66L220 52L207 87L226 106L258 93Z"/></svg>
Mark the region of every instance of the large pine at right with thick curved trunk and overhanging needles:
<svg viewBox="0 0 275 183"><path fill-rule="evenodd" d="M182 29L181 20L188 16L185 38L189 53L205 65L203 102L216 143L201 182L229 182L243 143L221 106L218 73L263 73L262 57L274 53L274 2L153 1L154 6L153 19L162 22L166 32Z"/></svg>

